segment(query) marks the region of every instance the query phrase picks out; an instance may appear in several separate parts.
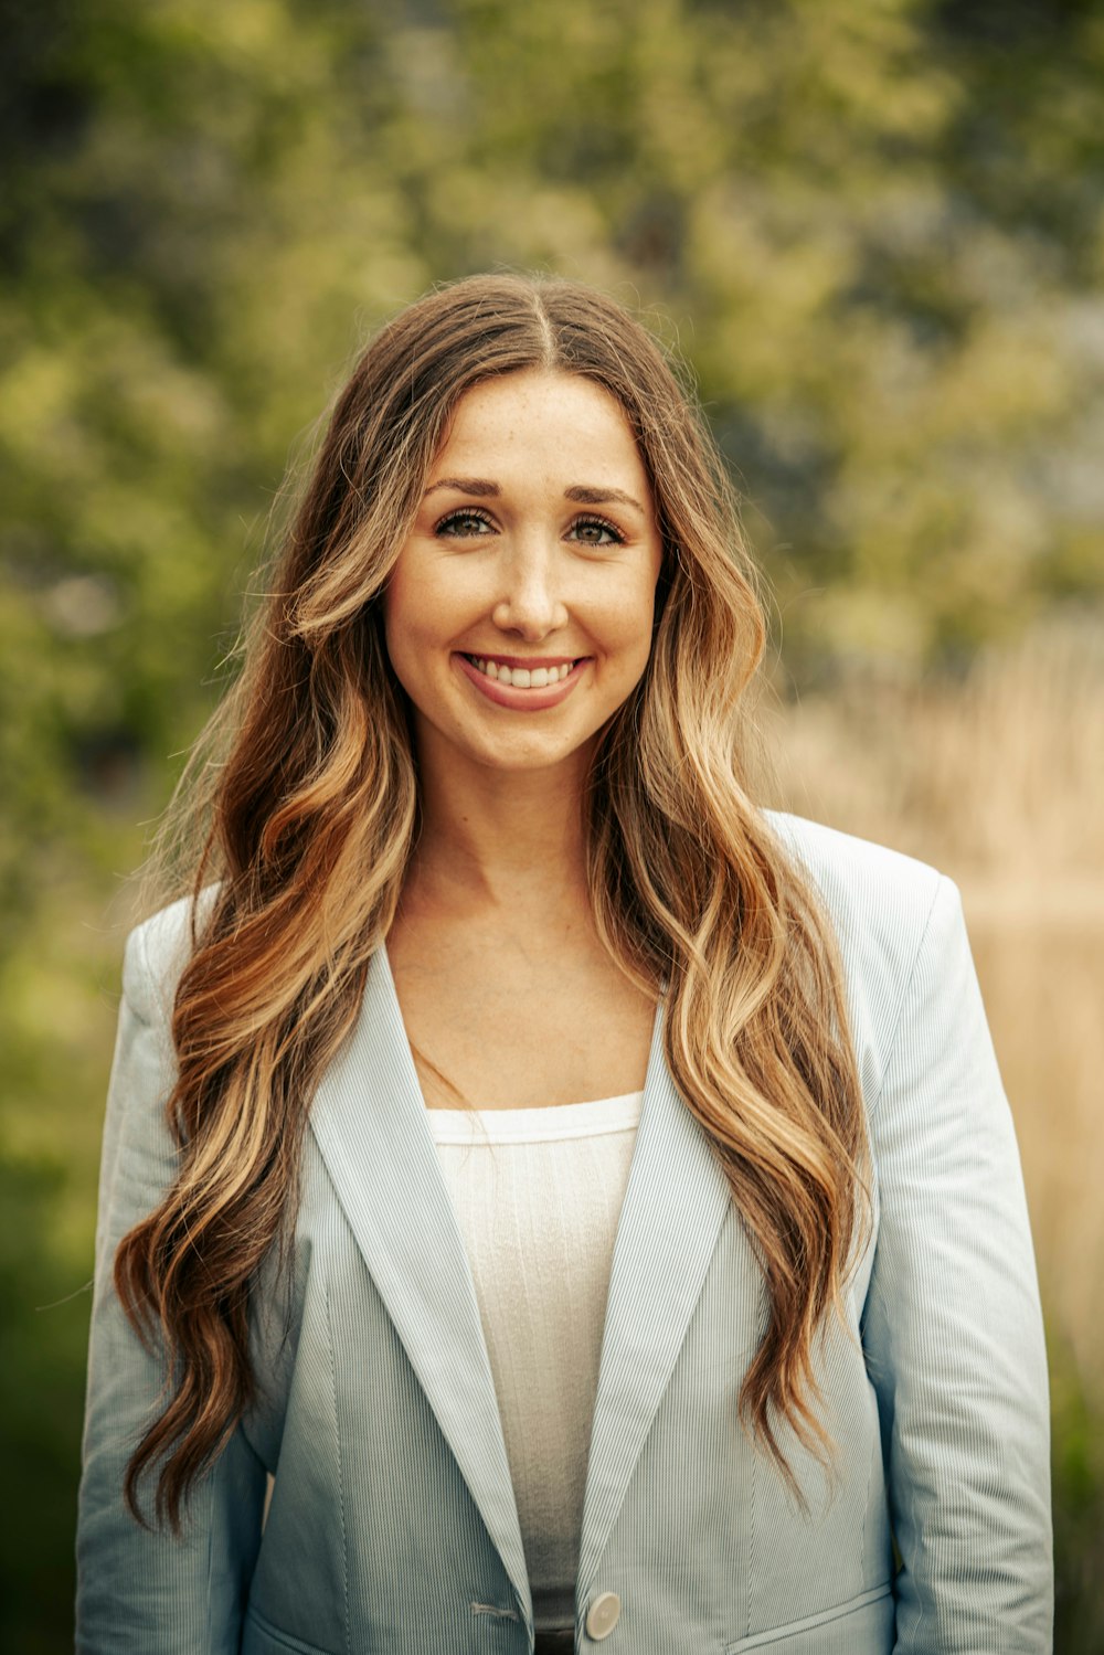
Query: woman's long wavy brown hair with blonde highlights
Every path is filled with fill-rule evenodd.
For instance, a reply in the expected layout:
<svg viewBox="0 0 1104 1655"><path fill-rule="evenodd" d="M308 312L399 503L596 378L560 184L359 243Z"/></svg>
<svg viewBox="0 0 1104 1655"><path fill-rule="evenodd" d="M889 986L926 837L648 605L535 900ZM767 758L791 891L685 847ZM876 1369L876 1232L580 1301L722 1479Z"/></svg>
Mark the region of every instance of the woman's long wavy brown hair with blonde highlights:
<svg viewBox="0 0 1104 1655"><path fill-rule="evenodd" d="M184 844L195 900L172 1013L179 1170L114 1263L169 1375L127 1466L141 1521L139 1480L159 1466L156 1518L179 1528L255 1398L250 1293L293 1230L311 1094L358 1016L419 826L381 594L457 401L521 369L604 386L652 483L655 631L593 760L589 897L612 958L665 993L670 1074L761 1264L740 1417L791 1485L785 1427L831 1461L813 1355L866 1225L866 1137L828 920L746 791L765 627L732 485L679 371L617 303L473 276L389 323L338 396L156 852Z"/></svg>

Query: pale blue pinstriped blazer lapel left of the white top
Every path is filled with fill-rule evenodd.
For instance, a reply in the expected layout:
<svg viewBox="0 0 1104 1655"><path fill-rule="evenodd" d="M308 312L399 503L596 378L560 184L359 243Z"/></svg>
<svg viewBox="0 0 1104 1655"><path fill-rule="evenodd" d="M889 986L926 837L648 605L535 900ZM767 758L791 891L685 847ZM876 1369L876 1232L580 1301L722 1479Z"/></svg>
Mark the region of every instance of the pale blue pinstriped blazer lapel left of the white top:
<svg viewBox="0 0 1104 1655"><path fill-rule="evenodd" d="M467 1248L381 947L311 1129L372 1281L533 1622L521 1529Z"/></svg>

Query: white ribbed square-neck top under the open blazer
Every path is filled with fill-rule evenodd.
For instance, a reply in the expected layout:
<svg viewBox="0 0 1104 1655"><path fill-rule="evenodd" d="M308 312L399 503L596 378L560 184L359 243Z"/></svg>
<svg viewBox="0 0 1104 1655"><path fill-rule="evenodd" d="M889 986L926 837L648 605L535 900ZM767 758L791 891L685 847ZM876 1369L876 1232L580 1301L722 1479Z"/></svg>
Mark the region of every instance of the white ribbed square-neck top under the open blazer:
<svg viewBox="0 0 1104 1655"><path fill-rule="evenodd" d="M538 1632L574 1625L609 1266L642 1102L427 1111L472 1264Z"/></svg>

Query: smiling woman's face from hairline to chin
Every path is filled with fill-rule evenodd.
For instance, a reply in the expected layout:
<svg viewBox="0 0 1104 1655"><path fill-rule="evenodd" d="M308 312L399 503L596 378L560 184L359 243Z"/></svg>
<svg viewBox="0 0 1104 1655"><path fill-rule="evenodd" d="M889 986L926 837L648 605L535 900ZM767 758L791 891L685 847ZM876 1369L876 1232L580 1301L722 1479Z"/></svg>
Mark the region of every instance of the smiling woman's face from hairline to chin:
<svg viewBox="0 0 1104 1655"><path fill-rule="evenodd" d="M538 369L473 386L384 594L422 763L586 758L647 664L660 554L607 391Z"/></svg>

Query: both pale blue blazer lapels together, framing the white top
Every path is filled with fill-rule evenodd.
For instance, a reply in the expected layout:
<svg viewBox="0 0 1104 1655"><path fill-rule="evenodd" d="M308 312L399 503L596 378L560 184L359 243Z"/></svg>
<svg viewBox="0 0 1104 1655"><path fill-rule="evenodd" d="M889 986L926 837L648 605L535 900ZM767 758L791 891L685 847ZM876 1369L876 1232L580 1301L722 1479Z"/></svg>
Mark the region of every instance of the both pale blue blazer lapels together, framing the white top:
<svg viewBox="0 0 1104 1655"><path fill-rule="evenodd" d="M621 1509L705 1279L728 1183L670 1081L655 1011L617 1225L591 1430L576 1594ZM513 1582L533 1604L467 1248L425 1117L386 948L323 1076L311 1129L372 1281Z"/></svg>

